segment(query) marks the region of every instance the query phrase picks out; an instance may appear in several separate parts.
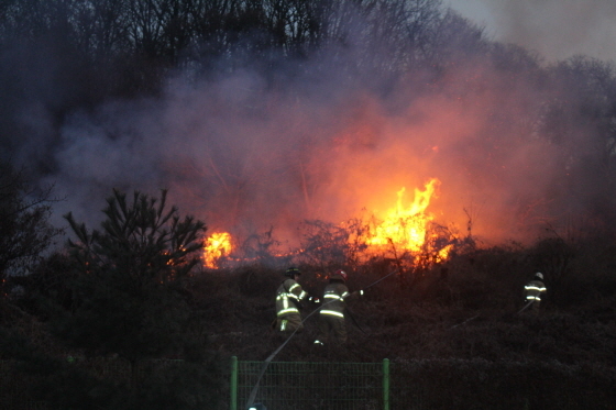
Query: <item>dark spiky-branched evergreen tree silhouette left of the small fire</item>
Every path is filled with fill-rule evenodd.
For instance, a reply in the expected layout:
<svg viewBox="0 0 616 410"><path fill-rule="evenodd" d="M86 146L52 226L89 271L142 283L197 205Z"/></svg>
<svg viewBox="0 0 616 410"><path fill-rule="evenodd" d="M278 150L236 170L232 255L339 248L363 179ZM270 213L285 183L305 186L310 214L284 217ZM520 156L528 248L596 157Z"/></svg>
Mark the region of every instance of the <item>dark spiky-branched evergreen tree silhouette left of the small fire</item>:
<svg viewBox="0 0 616 410"><path fill-rule="evenodd" d="M167 210L165 190L160 200L135 191L132 202L114 190L103 212L101 230L91 233L66 215L79 275L75 308L57 318L56 332L75 347L133 364L180 354L190 324L180 279L199 262L204 222Z"/></svg>

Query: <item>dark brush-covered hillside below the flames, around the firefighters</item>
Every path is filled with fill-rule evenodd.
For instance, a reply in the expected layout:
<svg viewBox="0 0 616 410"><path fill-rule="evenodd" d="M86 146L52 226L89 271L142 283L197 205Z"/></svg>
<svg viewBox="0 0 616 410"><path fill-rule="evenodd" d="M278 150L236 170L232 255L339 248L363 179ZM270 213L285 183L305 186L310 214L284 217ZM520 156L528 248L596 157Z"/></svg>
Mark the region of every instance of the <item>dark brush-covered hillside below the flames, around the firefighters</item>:
<svg viewBox="0 0 616 410"><path fill-rule="evenodd" d="M123 306L128 290L119 299L101 293L107 296L98 301L100 295L77 302L75 282L59 274L66 259L57 256L23 278L23 293L2 304L3 375L12 376L3 378L3 403L79 409L128 400L116 408L208 402L228 409L235 356L295 363L387 358L393 408L609 409L616 399L616 277L608 251L591 241L549 239L527 248L468 250L428 268L394 274L396 261L341 266L349 288L365 289L364 296L349 304L348 343L320 348L312 343L318 304L306 303L305 331L290 339L271 328L287 266L197 269L177 284L172 299L138 296L136 320L117 317L130 311ZM297 266L304 289L320 297L330 269ZM538 270L548 288L541 311L520 312L524 285ZM96 315L88 304L107 311ZM61 308L72 319L58 315ZM105 318L116 331L99 323ZM144 320L160 321L161 329ZM128 324L141 331L120 329ZM140 340L145 330L148 339ZM20 386L28 388L18 395Z"/></svg>

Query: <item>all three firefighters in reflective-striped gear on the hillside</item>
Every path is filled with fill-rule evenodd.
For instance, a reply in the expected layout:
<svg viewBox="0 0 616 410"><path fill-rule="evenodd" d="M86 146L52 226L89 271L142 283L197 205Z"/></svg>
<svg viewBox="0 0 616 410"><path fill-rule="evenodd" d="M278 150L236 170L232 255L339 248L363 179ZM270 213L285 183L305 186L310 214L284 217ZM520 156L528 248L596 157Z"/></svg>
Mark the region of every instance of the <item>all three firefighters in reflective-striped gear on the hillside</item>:
<svg viewBox="0 0 616 410"><path fill-rule="evenodd" d="M308 293L298 284L301 273L296 267L289 267L285 273L285 279L276 291L276 321L274 326L282 334L292 334L301 332L304 323L299 309L304 300L319 303L319 299L309 297ZM337 344L346 342L346 325L344 323L344 312L346 302L352 301L364 293L363 290L349 291L346 287L348 274L338 269L329 277L329 284L326 286L323 297L319 310L319 335L315 340L315 345L323 346L329 341ZM531 311L538 312L541 303L541 296L546 293L546 285L543 284L543 275L535 274L524 287L525 307L524 311L530 308Z"/></svg>

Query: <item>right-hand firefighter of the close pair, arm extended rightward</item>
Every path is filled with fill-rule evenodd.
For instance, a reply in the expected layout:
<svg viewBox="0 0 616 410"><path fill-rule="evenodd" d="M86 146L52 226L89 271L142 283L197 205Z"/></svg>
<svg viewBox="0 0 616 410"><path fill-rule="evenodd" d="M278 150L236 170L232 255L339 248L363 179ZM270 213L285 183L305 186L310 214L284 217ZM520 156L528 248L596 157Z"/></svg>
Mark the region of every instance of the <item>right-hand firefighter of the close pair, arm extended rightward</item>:
<svg viewBox="0 0 616 410"><path fill-rule="evenodd" d="M338 269L330 277L326 287L319 312L319 337L315 341L318 346L323 346L330 335L338 344L346 342L346 324L344 323L346 302L356 299L364 292L356 290L350 293L345 285L346 278L346 273Z"/></svg>

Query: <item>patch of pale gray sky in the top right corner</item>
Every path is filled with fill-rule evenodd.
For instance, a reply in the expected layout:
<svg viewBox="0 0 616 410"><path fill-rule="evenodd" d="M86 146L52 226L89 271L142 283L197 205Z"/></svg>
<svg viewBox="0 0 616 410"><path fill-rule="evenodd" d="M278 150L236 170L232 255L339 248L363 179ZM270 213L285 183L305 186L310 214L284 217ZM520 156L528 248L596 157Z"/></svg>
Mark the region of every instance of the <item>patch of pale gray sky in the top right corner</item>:
<svg viewBox="0 0 616 410"><path fill-rule="evenodd" d="M492 38L548 63L584 54L616 60L616 0L443 0Z"/></svg>

